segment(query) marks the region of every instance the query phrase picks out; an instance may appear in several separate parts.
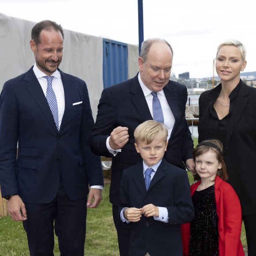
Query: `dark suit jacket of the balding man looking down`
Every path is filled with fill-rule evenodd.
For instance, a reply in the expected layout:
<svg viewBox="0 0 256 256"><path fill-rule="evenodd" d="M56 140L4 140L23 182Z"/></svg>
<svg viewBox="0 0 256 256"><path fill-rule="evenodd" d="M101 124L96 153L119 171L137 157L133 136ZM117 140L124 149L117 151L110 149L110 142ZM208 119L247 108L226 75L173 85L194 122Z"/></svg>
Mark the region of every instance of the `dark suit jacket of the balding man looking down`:
<svg viewBox="0 0 256 256"><path fill-rule="evenodd" d="M165 158L173 165L184 168L182 161L192 158L193 140L185 119L187 88L180 83L169 81L164 87L167 102L173 112L175 124L169 139ZM134 78L108 87L102 91L98 104L98 115L90 138L90 147L94 154L113 157L106 147L106 139L114 128L128 127L129 140L122 152L113 157L110 202L120 203L119 186L122 171L142 159L134 147L133 132L146 120L152 120L147 101L139 85L138 75Z"/></svg>

